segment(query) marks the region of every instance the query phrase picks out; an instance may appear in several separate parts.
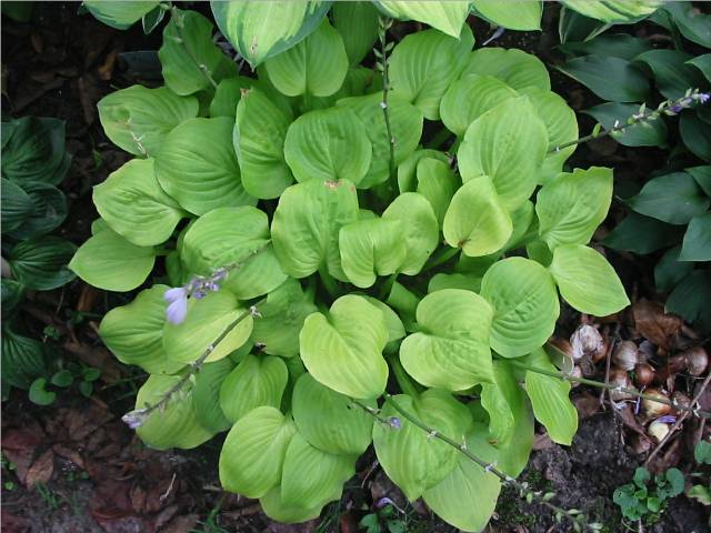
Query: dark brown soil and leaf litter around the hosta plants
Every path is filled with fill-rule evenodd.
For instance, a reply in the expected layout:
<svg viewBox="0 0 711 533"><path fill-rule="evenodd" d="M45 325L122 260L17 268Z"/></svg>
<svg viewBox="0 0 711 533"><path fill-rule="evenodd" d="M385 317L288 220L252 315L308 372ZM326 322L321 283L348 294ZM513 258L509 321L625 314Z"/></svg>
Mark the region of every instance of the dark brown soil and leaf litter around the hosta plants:
<svg viewBox="0 0 711 533"><path fill-rule="evenodd" d="M129 72L120 54L156 50L160 32L143 36L140 28L116 31L88 14L78 14L78 7L69 2L37 2L30 23L18 23L3 16L2 114L57 117L67 122L67 148L73 163L62 189L71 205L59 233L79 244L89 235L90 222L97 217L91 187L129 159L103 135L96 102L117 88L156 83L148 71L138 76ZM493 44L522 48L554 64L560 59L552 49L557 42L554 14L547 9L542 33L505 32ZM492 32L480 20L473 21L473 26L478 43ZM553 89L575 110L597 103L587 90L554 69L551 78ZM581 131L592 127L584 115L579 119ZM659 169L662 161L663 152L657 149L632 150L603 140L580 147L572 163L614 165L615 179L639 182ZM611 220L619 215L613 212ZM635 299L657 296L649 289L653 286L653 261L615 254L610 254L610 260ZM455 531L432 517L422 503L407 504L377 467L372 451L360 460L359 474L347 484L341 502L327 506L319 520L288 526L262 515L254 501L220 490L217 457L223 436L191 452L146 449L120 422L120 415L131 409L144 374L117 363L96 333L100 316L121 303L121 298L81 282L66 290L29 295L21 315L26 329L49 343L57 358L100 368L102 379L90 400L73 391L60 396L52 406L39 408L28 401L26 392L13 391L2 404L4 531L350 533L358 531L358 521L382 497L391 499L402 510L398 517L405 524L405 531ZM564 310L559 324L563 336L580 320L578 313ZM59 332L57 339L47 335L48 325ZM595 391L584 390L577 390L574 396L587 399L589 406L590 392L597 398ZM604 524L603 531L627 531L618 506L612 503L612 493L630 482L642 456L630 453L619 414L610 410L590 411L580 409L580 430L570 447L547 441L539 428L541 434L521 479L537 490L555 492L557 504L587 512L590 520ZM674 445L680 447L680 444L671 447ZM678 464L689 471L689 461L682 455L688 457L688 451L665 455L665 464ZM700 533L709 531L708 524L708 512L680 496L671 502L661 521L645 531ZM508 489L488 526L491 532L569 530L568 524L557 524L548 509L529 505Z"/></svg>

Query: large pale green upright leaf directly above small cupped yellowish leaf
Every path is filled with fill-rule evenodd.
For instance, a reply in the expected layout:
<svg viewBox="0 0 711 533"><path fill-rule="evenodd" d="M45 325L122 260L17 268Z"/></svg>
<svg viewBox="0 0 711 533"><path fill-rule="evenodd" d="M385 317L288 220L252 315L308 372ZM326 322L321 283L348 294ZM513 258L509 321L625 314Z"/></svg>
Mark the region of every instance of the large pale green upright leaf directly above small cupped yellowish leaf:
<svg viewBox="0 0 711 533"><path fill-rule="evenodd" d="M462 180L489 175L501 203L512 211L533 193L547 147L545 124L530 100L507 100L467 129L457 152Z"/></svg>

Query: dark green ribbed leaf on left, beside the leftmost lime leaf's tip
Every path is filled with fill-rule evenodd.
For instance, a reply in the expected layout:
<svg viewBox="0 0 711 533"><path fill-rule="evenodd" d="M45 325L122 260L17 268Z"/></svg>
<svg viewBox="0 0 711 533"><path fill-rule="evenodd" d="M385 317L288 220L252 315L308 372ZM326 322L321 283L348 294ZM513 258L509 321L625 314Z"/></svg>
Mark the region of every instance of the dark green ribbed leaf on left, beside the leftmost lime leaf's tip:
<svg viewBox="0 0 711 533"><path fill-rule="evenodd" d="M49 291L74 279L67 265L77 247L58 237L43 237L17 244L8 260L12 274L28 289Z"/></svg>

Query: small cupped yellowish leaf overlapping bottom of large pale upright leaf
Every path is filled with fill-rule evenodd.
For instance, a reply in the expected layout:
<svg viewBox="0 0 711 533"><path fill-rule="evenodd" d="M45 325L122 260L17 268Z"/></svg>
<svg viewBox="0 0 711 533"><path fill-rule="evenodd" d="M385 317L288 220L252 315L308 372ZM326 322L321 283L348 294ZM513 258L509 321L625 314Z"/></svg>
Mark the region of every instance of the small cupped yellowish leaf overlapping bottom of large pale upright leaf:
<svg viewBox="0 0 711 533"><path fill-rule="evenodd" d="M454 193L444 215L444 240L469 257L501 250L513 232L509 211L488 175L479 175Z"/></svg>

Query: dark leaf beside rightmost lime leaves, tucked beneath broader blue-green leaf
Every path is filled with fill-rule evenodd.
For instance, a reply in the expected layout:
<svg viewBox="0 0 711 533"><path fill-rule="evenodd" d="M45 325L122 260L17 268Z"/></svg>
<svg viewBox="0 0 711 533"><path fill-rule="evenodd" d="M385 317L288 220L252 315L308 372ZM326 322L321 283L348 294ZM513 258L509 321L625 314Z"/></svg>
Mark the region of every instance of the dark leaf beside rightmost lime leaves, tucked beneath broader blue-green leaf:
<svg viewBox="0 0 711 533"><path fill-rule="evenodd" d="M605 247L639 254L679 242L680 230L639 213L630 213L602 240Z"/></svg>

